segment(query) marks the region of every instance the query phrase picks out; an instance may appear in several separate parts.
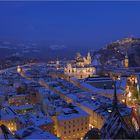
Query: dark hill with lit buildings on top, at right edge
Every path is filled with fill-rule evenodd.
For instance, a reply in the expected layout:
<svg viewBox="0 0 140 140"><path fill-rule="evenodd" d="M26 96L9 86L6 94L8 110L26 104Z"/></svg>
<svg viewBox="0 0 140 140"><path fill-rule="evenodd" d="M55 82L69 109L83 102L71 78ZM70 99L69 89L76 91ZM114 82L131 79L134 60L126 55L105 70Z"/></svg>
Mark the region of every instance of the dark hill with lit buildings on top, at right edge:
<svg viewBox="0 0 140 140"><path fill-rule="evenodd" d="M106 64L111 59L123 60L126 53L129 58L129 66L140 66L140 38L117 40L95 52L94 55L100 54L101 63Z"/></svg>

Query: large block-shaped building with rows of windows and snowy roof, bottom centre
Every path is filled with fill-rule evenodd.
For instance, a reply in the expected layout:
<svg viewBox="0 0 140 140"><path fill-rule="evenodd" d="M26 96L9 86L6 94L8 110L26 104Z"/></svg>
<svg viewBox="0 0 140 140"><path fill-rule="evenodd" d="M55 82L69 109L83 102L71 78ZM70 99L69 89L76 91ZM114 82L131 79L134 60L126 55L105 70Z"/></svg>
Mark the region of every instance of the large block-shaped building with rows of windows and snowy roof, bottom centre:
<svg viewBox="0 0 140 140"><path fill-rule="evenodd" d="M64 108L55 122L57 137L62 140L81 138L89 130L89 114L78 107Z"/></svg>

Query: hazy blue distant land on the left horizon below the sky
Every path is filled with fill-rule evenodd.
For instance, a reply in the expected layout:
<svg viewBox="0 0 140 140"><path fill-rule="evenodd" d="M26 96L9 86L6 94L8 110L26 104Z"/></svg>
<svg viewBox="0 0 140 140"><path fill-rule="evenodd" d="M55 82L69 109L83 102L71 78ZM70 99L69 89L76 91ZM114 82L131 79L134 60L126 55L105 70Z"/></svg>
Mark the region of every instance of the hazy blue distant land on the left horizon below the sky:
<svg viewBox="0 0 140 140"><path fill-rule="evenodd" d="M8 41L0 40L0 59L20 56L29 59L72 59L76 52L87 53L87 48L65 45L59 41Z"/></svg>

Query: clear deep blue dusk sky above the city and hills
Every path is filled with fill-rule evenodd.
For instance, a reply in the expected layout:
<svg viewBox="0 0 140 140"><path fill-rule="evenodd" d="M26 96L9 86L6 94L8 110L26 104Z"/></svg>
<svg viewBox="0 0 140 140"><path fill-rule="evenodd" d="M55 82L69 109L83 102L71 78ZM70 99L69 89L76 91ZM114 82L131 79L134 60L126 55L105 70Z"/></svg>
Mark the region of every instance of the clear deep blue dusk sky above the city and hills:
<svg viewBox="0 0 140 140"><path fill-rule="evenodd" d="M140 1L0 2L0 38L101 48L140 37Z"/></svg>

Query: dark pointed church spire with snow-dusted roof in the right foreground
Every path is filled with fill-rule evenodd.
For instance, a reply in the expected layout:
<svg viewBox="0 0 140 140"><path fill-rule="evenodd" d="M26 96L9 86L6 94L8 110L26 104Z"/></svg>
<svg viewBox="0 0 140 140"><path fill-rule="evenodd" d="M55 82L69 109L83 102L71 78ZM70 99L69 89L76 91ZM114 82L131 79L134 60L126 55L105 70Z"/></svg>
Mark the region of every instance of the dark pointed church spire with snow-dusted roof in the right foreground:
<svg viewBox="0 0 140 140"><path fill-rule="evenodd" d="M117 103L116 80L114 81L113 110L101 128L102 139L132 139L136 136L136 131L131 123L131 119L124 119L120 113L121 106Z"/></svg>

